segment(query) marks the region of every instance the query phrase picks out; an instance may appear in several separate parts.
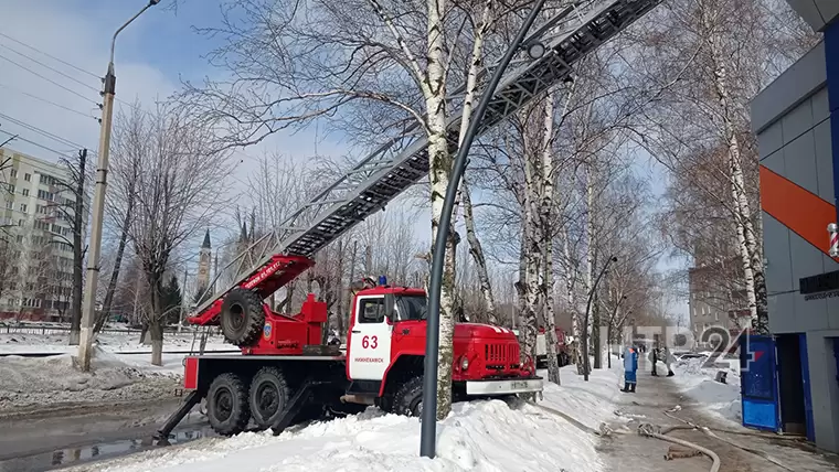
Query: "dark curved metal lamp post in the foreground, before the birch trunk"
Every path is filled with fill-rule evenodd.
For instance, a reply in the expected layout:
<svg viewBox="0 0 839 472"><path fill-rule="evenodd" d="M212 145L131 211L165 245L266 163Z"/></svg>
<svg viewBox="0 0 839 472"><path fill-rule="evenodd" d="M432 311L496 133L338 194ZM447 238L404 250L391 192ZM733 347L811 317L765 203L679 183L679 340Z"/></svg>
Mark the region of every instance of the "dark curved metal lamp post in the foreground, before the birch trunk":
<svg viewBox="0 0 839 472"><path fill-rule="evenodd" d="M460 186L460 179L466 170L466 161L469 154L475 136L478 133L484 114L489 106L489 101L501 82L501 75L512 61L512 56L522 46L524 35L533 25L539 12L542 10L544 0L537 0L533 9L522 23L521 29L516 34L510 47L505 53L498 67L492 73L487 87L481 94L480 101L475 108L469 127L466 129L460 147L457 149L452 174L446 187L446 197L443 201L443 214L440 215L437 236L434 239L434 253L432 255L431 282L428 283L428 317L425 336L425 363L424 363L424 382L423 382L423 412L422 412L422 432L420 435L420 455L434 458L437 447L437 353L439 351L439 293L443 285L443 265L446 255L446 238L448 237L449 226L452 225L452 211L455 206L455 195ZM532 45L531 45L532 47ZM537 54L540 51L531 51L529 54ZM542 47L541 53L544 53Z"/></svg>

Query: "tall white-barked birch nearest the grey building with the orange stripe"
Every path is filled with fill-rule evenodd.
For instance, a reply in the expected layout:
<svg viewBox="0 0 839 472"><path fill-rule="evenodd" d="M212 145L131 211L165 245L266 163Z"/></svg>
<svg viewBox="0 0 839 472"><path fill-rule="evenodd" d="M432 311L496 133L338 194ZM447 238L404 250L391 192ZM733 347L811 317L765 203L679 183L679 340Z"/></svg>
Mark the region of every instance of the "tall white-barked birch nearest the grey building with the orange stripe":
<svg viewBox="0 0 839 472"><path fill-rule="evenodd" d="M658 84L690 65L648 108L645 131L636 141L671 170L683 157L724 149L725 168L719 176L725 180L725 193L708 193L729 208L730 240L758 332L767 330L767 312L757 159L744 138L750 135L748 100L807 43L798 33L800 21L787 21L792 17L784 10L788 7L775 0L670 2L648 20L650 29L636 56L640 61L630 65L636 74L627 74L633 81ZM704 186L701 181L697 185Z"/></svg>

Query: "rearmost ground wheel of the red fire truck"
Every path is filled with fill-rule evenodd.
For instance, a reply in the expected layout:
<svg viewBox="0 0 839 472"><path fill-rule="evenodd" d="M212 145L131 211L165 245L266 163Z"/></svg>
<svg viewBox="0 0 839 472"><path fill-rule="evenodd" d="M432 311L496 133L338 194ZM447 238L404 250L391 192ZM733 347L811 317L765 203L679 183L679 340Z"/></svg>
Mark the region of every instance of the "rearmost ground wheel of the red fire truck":
<svg viewBox="0 0 839 472"><path fill-rule="evenodd" d="M247 389L240 376L222 374L210 384L206 418L213 430L222 436L233 436L245 430L251 412L247 409Z"/></svg>

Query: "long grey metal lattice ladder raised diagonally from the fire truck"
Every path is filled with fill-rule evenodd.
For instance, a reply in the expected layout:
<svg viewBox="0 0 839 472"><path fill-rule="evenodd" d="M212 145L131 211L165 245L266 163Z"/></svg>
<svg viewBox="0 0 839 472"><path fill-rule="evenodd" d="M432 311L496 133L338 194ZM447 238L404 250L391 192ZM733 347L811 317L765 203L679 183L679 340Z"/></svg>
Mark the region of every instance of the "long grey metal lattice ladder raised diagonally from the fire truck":
<svg viewBox="0 0 839 472"><path fill-rule="evenodd" d="M578 1L551 17L525 41L540 41L545 54L538 60L521 54L502 77L481 121L485 133L528 101L566 78L572 66L586 54L629 26L661 0ZM490 66L491 67L491 66ZM486 74L487 72L485 72ZM465 87L453 96L463 94ZM456 137L461 111L453 114L449 136ZM456 139L452 139L453 149ZM408 128L359 161L352 169L318 193L274 230L242 253L238 261L252 261L238 280L217 291L197 308L201 313L231 289L257 273L275 254L311 257L428 174L428 140L417 127ZM215 276L216 278L219 275ZM213 283L210 285L211 287Z"/></svg>

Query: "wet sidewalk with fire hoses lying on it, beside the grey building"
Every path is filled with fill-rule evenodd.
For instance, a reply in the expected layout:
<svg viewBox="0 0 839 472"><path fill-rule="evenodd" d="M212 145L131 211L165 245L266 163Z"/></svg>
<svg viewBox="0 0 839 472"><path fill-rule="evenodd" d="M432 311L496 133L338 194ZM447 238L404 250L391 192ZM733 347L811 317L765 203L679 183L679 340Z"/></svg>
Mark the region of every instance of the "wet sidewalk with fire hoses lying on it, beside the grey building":
<svg viewBox="0 0 839 472"><path fill-rule="evenodd" d="M637 433L638 425L645 422L662 428L676 425L681 426L682 423L679 421L666 416L665 410L677 405L684 405L686 400L679 394L678 385L672 378L652 377L649 373L649 362L644 358L639 360L637 393L622 394L618 397L619 411L622 416L630 418L630 421L628 423L616 423L614 426L616 432L603 438L601 444L598 444L598 451L602 453L606 469L612 471L631 470L633 472L709 471L711 468L711 460L709 458L700 455L666 461L665 454L672 443L656 438L645 438ZM730 422L723 423L719 418L713 418L697 408L687 407L671 415L689 420L694 425L755 432ZM699 430L677 430L667 436L711 449L720 457L720 471L839 471L839 466L837 466L839 460L836 457L824 457L819 453L810 452L805 450L806 446L792 446L793 441L782 439L769 440L754 436L725 432L715 432L715 435L739 444L763 451L786 468L778 466L765 458L743 451L724 441L710 438Z"/></svg>

